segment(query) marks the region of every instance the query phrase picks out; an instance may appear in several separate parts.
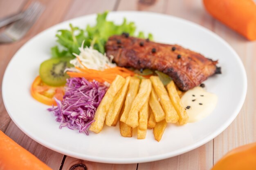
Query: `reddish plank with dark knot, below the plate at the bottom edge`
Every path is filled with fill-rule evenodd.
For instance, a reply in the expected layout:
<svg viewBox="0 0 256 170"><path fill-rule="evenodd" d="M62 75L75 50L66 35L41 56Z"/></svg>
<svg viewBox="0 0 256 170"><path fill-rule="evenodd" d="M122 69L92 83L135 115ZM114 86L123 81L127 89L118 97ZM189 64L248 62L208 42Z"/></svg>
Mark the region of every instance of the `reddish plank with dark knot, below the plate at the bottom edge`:
<svg viewBox="0 0 256 170"><path fill-rule="evenodd" d="M109 164L109 163L96 163L67 157L63 165L63 170L85 170L86 166L88 170L136 170L137 164Z"/></svg>

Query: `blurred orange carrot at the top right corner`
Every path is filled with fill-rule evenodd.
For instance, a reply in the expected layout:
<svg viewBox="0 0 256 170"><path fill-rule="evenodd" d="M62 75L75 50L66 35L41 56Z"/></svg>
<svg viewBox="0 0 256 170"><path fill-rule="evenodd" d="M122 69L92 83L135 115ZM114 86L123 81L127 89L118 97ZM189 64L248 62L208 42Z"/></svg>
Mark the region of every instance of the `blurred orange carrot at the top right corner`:
<svg viewBox="0 0 256 170"><path fill-rule="evenodd" d="M256 4L253 0L203 0L205 9L217 20L256 40Z"/></svg>

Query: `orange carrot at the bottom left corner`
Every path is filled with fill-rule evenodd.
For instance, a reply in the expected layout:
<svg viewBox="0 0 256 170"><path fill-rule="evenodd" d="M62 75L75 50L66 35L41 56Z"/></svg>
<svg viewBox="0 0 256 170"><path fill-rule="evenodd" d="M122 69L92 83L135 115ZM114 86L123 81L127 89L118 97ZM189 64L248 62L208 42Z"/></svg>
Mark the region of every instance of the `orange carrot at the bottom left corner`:
<svg viewBox="0 0 256 170"><path fill-rule="evenodd" d="M51 170L29 151L0 131L1 170Z"/></svg>

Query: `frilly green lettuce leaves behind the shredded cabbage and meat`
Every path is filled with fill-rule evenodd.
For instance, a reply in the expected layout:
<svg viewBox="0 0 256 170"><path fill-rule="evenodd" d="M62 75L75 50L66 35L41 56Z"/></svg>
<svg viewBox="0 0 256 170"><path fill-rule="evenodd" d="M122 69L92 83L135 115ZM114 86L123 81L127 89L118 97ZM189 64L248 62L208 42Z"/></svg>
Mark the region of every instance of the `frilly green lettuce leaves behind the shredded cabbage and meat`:
<svg viewBox="0 0 256 170"><path fill-rule="evenodd" d="M52 58L74 57L72 53L79 54L78 48L81 47L83 41L84 47L91 45L94 49L104 53L104 46L110 36L120 35L124 32L130 34L130 36L134 36L136 30L134 22L127 22L126 18L124 18L121 25L116 25L114 22L106 20L107 15L108 11L99 13L96 25L87 25L86 29L73 27L70 24L69 30L58 30L56 34L57 42L63 47L63 50L61 51L58 46L52 47ZM145 38L144 33L139 32L138 37ZM148 34L148 38L152 40L152 34Z"/></svg>

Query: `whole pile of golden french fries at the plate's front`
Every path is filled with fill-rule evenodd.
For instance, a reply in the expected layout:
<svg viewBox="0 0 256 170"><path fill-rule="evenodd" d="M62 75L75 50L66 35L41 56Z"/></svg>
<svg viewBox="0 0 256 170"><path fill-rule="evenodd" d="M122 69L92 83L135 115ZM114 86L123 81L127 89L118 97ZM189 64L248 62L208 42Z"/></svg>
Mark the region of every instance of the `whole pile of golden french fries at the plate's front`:
<svg viewBox="0 0 256 170"><path fill-rule="evenodd" d="M167 123L188 122L180 95L173 81L164 87L158 76L142 80L117 76L97 108L90 130L99 133L104 122L115 126L119 121L121 136L132 137L132 129L137 128L137 139L145 139L147 129L153 129L155 140L160 141Z"/></svg>

